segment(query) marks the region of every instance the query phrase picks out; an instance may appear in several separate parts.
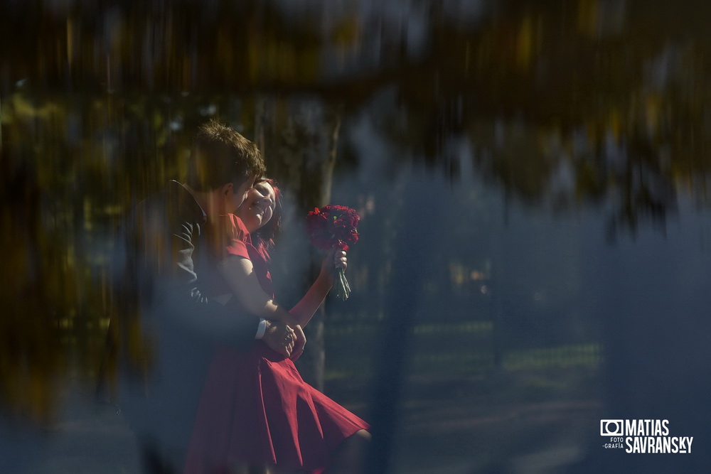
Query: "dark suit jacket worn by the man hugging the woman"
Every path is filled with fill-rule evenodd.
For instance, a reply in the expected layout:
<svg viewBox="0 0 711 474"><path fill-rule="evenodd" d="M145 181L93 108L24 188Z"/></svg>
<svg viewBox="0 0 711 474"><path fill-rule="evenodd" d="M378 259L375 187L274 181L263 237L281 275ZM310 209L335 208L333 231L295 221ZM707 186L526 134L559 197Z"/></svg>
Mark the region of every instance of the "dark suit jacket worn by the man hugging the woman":
<svg viewBox="0 0 711 474"><path fill-rule="evenodd" d="M139 436L178 449L187 446L215 343L247 349L257 332L256 316L206 295L215 277L208 236L205 212L176 181L139 204L127 225L127 293L137 295L151 355L145 370L127 370L122 411Z"/></svg>

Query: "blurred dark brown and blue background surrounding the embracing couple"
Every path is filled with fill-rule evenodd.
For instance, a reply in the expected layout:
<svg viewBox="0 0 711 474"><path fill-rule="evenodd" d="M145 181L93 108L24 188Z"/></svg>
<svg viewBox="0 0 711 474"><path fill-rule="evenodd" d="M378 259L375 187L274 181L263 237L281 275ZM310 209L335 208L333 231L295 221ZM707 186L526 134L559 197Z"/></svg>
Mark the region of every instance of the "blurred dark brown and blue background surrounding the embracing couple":
<svg viewBox="0 0 711 474"><path fill-rule="evenodd" d="M284 301L315 258L305 212L363 216L353 296L322 329L326 393L376 427L373 472L705 472L708 18L702 1L1 1L0 470L137 469L88 395L102 362L118 383L114 241L217 118L287 190ZM668 419L692 453L603 448L600 419Z"/></svg>

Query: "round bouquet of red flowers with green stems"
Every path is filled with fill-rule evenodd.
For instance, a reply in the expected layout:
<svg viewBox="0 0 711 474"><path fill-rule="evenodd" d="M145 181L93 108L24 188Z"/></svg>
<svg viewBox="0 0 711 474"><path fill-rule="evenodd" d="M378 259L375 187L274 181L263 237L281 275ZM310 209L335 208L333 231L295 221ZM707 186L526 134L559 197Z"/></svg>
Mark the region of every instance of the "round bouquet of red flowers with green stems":
<svg viewBox="0 0 711 474"><path fill-rule="evenodd" d="M338 247L348 250L350 245L358 242L358 212L346 206L327 205L323 208L314 208L306 215L306 232L309 234L311 244L322 250ZM343 301L351 295L346 274L342 268L336 269L336 296Z"/></svg>

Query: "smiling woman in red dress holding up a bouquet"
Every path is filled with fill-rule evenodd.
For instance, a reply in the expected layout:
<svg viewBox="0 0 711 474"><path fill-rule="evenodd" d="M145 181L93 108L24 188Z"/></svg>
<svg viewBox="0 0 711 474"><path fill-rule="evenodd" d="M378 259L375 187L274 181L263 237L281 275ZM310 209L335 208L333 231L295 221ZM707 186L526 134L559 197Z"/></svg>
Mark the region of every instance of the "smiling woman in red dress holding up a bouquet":
<svg viewBox="0 0 711 474"><path fill-rule="evenodd" d="M279 188L258 181L237 210L225 216L215 298L289 325L309 322L333 285L346 252L328 253L321 274L287 313L274 301L267 249L279 226ZM218 233L222 233L220 230ZM292 355L293 357L293 355ZM359 472L368 424L306 384L294 362L256 341L249 352L215 351L196 416L185 473Z"/></svg>

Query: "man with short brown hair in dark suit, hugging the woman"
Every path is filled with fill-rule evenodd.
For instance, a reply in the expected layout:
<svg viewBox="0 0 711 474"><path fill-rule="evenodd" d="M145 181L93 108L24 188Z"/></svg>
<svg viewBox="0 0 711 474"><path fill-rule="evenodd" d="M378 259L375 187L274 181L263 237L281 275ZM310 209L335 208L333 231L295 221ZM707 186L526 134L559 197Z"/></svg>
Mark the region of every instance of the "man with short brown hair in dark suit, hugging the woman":
<svg viewBox="0 0 711 474"><path fill-rule="evenodd" d="M140 325L150 357L137 365L135 349L127 348L125 372L133 377L122 384L122 410L148 472L182 469L215 342L246 350L261 339L286 356L303 349L298 326L235 314L205 293L213 272L208 235L216 233L210 227L235 212L264 171L255 144L209 122L194 141L186 182L171 181L129 222L127 276L138 302L133 326Z"/></svg>

